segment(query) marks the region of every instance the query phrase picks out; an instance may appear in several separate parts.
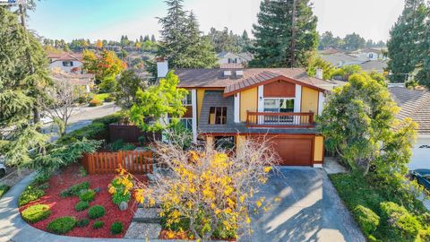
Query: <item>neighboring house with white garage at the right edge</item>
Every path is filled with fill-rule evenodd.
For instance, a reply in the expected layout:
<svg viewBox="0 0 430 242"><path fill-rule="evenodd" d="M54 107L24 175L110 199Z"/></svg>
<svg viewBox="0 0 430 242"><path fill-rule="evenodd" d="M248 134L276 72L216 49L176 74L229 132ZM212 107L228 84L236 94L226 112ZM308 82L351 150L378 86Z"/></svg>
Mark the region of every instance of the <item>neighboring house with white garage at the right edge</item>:
<svg viewBox="0 0 430 242"><path fill-rule="evenodd" d="M417 143L412 150L409 169L430 169L430 92L389 86L391 96L399 105L398 117L412 118L418 124Z"/></svg>

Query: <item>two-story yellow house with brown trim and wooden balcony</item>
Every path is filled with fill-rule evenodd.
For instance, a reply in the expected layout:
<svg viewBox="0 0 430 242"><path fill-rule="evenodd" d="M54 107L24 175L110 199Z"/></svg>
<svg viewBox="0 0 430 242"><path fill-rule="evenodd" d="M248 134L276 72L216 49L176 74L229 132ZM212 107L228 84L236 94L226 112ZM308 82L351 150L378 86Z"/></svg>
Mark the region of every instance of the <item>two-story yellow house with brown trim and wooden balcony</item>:
<svg viewBox="0 0 430 242"><path fill-rule="evenodd" d="M168 73L160 62L159 77ZM177 69L179 87L189 91L181 120L194 141L216 146L266 137L280 165L323 164L323 136L315 130L325 94L334 84L309 77L305 69Z"/></svg>

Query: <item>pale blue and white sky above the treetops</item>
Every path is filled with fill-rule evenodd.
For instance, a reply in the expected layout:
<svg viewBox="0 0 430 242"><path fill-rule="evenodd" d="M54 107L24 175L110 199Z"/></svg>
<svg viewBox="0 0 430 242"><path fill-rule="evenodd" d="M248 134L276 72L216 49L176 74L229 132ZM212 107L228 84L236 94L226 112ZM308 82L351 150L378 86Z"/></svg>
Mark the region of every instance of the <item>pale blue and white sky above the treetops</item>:
<svg viewBox="0 0 430 242"><path fill-rule="evenodd" d="M185 0L185 10L193 10L205 33L225 26L235 33L251 34L257 22L261 0ZM344 37L356 32L365 39L387 40L404 0L311 0L318 17L317 30L331 30ZM166 15L162 0L41 0L30 13L30 29L48 39L117 39L127 35L155 34L157 17Z"/></svg>

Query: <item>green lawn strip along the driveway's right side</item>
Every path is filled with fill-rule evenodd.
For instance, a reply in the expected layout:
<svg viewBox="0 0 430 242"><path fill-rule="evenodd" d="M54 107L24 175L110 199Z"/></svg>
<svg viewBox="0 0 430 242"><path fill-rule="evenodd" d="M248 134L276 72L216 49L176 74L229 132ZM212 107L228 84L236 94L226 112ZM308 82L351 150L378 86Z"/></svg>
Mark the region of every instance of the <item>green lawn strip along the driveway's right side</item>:
<svg viewBox="0 0 430 242"><path fill-rule="evenodd" d="M352 213L356 221L360 220L360 216L362 216L360 212L357 212L357 206L359 205L372 210L381 218L379 226L374 229L372 235L366 235L369 241L373 241L374 238L378 239L378 241L408 241L399 237L393 231L392 227L388 224L388 220L383 220L381 203L395 202L391 197L386 197L384 191L371 186L366 178L360 174L335 174L329 177L332 184L336 187L340 198L346 203L348 210ZM419 213L417 215L422 214L422 212ZM360 227L362 226L362 224L359 225Z"/></svg>

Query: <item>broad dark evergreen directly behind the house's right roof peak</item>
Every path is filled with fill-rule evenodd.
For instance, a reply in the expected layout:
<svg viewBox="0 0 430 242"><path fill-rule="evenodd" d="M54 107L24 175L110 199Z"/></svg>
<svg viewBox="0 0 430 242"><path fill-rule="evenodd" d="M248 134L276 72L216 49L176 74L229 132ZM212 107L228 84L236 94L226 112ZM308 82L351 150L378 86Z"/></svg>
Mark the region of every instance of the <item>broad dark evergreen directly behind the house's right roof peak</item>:
<svg viewBox="0 0 430 242"><path fill-rule="evenodd" d="M318 44L317 18L309 0L262 1L254 24L254 61L262 67L306 66Z"/></svg>

